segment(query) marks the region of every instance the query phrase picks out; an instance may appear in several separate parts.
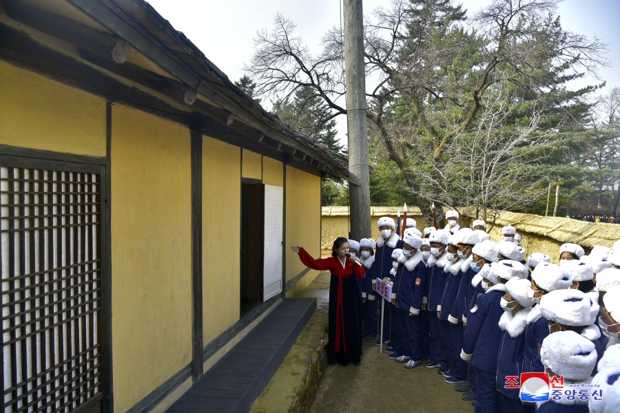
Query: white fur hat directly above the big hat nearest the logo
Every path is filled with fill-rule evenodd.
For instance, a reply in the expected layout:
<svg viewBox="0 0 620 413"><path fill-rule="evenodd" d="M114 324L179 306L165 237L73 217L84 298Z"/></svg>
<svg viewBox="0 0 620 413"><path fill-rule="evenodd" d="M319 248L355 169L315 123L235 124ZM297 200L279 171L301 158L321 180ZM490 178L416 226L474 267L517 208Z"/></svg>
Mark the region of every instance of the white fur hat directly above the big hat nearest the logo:
<svg viewBox="0 0 620 413"><path fill-rule="evenodd" d="M543 317L565 326L590 326L599 313L599 304L590 300L586 293L570 288L543 295L539 306Z"/></svg>

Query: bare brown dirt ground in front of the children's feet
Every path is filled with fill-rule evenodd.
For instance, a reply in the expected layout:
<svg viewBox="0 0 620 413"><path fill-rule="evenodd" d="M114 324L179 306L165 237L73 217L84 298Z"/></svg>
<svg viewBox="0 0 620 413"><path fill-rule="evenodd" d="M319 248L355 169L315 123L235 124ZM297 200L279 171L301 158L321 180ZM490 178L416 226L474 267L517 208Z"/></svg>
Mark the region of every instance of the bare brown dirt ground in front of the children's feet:
<svg viewBox="0 0 620 413"><path fill-rule="evenodd" d="M385 350L380 354L373 341L364 341L359 366L328 366L311 412L473 412L461 394L437 368L407 370L404 363L388 359Z"/></svg>

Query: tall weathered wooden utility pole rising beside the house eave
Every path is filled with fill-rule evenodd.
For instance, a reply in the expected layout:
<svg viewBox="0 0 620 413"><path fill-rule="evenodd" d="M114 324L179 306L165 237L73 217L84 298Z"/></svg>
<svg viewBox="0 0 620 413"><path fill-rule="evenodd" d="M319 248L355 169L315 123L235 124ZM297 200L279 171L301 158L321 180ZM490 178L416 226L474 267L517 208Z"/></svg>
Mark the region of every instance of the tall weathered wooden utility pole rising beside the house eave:
<svg viewBox="0 0 620 413"><path fill-rule="evenodd" d="M347 86L349 173L359 185L349 184L349 209L353 240L371 236L368 129L366 125L366 74L362 0L342 0L344 5L344 74Z"/></svg>

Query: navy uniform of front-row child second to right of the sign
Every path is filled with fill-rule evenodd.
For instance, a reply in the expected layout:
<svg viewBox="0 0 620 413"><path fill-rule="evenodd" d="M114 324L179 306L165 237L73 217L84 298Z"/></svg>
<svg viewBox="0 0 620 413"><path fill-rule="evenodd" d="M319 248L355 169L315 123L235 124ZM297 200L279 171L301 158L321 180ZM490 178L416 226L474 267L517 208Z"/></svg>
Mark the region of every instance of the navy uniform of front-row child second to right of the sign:
<svg viewBox="0 0 620 413"><path fill-rule="evenodd" d="M437 311L442 310L442 295L446 285L446 273L444 266L448 263L446 253L439 258L428 257L426 262L426 274L428 279L428 288L424 294L424 301L428 303L428 353L433 361L440 363L442 367L448 366L447 354L442 351L442 341L440 336L440 319L437 317Z"/></svg>

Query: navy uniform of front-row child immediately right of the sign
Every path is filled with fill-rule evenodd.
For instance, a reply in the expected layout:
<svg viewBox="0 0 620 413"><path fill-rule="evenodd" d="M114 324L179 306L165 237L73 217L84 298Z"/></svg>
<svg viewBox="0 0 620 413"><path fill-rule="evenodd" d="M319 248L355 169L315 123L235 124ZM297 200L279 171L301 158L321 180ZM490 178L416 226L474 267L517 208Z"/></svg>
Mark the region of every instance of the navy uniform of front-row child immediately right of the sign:
<svg viewBox="0 0 620 413"><path fill-rule="evenodd" d="M426 265L420 251L411 257L402 255L398 262L401 264L398 266L400 285L396 293L396 307L401 321L401 354L417 361L422 359L420 308L426 286Z"/></svg>

